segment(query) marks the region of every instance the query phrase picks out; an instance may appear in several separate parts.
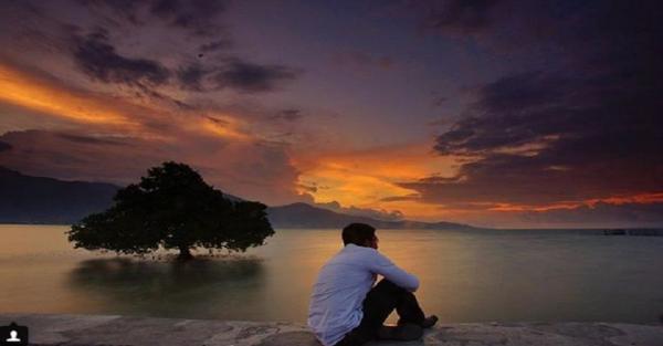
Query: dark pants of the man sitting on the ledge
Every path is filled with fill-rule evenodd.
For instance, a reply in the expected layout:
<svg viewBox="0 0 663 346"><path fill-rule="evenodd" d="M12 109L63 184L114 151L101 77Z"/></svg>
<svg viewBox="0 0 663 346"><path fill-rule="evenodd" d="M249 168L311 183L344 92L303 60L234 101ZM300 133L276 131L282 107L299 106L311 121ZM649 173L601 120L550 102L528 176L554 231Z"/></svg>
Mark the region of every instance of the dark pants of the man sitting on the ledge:
<svg viewBox="0 0 663 346"><path fill-rule="evenodd" d="M401 323L421 324L425 316L412 292L382 279L364 300L361 323L335 346L359 346L373 339L378 329L396 308Z"/></svg>

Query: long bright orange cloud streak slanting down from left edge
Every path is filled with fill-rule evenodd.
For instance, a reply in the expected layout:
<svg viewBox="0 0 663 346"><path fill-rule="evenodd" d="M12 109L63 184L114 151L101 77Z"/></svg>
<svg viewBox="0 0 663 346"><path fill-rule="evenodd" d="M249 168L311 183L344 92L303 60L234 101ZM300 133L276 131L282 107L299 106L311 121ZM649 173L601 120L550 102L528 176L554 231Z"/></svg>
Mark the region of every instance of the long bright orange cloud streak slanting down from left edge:
<svg viewBox="0 0 663 346"><path fill-rule="evenodd" d="M101 130L141 138L168 139L180 136L182 129L194 136L204 135L227 140L246 141L259 138L250 135L246 124L239 120L239 117L229 114L215 111L172 112L158 103L146 105L141 99L87 93L2 63L0 102L78 124L96 125ZM169 130L169 127L177 130Z"/></svg>

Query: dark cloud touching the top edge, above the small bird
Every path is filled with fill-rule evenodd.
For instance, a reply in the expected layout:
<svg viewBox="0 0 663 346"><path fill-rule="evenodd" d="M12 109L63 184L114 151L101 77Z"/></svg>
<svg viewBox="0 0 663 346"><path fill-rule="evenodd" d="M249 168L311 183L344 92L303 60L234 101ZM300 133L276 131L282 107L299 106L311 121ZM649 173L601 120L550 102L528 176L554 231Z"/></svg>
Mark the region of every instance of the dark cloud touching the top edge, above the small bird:
<svg viewBox="0 0 663 346"><path fill-rule="evenodd" d="M217 19L224 11L225 1L221 0L157 0L150 6L152 14L200 35L218 32Z"/></svg>

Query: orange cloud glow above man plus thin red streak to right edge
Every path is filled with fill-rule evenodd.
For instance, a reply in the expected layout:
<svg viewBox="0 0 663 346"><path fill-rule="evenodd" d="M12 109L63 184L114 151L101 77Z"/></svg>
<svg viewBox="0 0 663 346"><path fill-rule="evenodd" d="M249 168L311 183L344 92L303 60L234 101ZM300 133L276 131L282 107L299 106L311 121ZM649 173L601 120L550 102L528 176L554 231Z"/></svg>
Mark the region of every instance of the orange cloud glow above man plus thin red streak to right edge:
<svg viewBox="0 0 663 346"><path fill-rule="evenodd" d="M452 157L431 154L430 144L382 147L359 151L327 153L299 156L294 165L301 171L298 192L309 193L315 202L337 201L343 206L399 210L408 218L420 220L463 220L480 214L548 212L593 208L597 203L663 202L662 192L612 196L549 205L465 203L444 206L420 199L418 191L399 185L421 177L453 177L457 172Z"/></svg>

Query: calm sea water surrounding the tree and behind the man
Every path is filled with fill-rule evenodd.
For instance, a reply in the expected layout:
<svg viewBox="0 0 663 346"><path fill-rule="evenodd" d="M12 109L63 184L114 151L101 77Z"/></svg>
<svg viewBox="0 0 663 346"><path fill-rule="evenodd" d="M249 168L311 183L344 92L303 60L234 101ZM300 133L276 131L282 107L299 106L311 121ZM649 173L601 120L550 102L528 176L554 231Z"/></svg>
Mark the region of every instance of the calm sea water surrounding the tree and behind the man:
<svg viewBox="0 0 663 346"><path fill-rule="evenodd" d="M62 226L0 226L0 312L304 322L338 230L277 230L231 260L177 263L73 250ZM557 231L380 230L443 322L663 315L663 238ZM392 316L393 317L393 316Z"/></svg>

